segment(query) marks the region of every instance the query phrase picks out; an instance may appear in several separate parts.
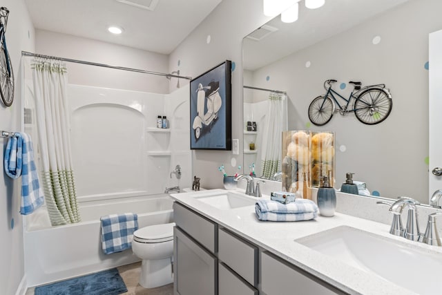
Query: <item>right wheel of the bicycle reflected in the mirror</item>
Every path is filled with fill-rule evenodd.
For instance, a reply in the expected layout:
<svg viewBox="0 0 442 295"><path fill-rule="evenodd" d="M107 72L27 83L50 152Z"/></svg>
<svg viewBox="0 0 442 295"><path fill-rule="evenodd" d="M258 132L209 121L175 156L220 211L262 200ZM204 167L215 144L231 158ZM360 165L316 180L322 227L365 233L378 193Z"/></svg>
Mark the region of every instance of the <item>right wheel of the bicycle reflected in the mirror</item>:
<svg viewBox="0 0 442 295"><path fill-rule="evenodd" d="M393 102L388 93L380 88L368 88L356 98L354 114L367 125L383 122L392 111Z"/></svg>

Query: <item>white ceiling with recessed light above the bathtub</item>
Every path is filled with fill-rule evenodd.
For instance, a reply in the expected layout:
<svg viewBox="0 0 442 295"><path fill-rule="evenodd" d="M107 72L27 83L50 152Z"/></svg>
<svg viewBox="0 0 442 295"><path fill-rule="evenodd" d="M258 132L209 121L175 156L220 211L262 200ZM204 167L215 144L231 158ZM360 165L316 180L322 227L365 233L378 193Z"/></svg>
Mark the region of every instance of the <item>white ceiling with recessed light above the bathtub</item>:
<svg viewBox="0 0 442 295"><path fill-rule="evenodd" d="M155 10L116 0L25 0L35 28L169 55L222 0L159 0ZM149 6L152 0L130 0ZM124 28L122 35L107 31Z"/></svg>

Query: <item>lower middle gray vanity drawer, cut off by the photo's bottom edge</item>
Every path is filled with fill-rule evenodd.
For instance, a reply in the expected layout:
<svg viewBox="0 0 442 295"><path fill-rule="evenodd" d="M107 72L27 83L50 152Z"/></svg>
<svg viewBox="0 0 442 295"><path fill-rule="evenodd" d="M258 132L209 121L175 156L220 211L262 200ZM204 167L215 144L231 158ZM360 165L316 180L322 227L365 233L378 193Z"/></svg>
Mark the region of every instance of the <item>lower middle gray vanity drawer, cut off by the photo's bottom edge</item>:
<svg viewBox="0 0 442 295"><path fill-rule="evenodd" d="M258 295L258 290L238 274L231 272L224 263L218 263L218 295L232 294Z"/></svg>

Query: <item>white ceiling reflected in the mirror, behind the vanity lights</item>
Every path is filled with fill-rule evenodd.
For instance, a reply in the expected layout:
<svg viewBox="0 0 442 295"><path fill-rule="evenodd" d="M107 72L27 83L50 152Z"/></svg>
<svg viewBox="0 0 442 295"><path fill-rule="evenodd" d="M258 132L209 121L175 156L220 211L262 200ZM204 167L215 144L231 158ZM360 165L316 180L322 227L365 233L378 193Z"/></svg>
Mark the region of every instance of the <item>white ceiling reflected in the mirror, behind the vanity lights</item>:
<svg viewBox="0 0 442 295"><path fill-rule="evenodd" d="M267 23L278 31L260 41L244 38L244 69L256 70L271 64L406 1L409 0L325 0L325 5L315 10L305 8L304 1L301 1L298 21L282 23L278 16ZM378 34L382 35L382 32ZM324 50L327 53L327 48Z"/></svg>

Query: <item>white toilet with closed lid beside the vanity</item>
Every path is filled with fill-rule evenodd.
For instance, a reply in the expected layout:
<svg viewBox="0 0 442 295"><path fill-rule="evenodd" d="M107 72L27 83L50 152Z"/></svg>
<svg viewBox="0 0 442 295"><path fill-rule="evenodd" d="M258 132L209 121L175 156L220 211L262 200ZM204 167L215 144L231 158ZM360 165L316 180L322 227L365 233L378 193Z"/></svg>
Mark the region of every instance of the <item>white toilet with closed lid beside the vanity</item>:
<svg viewBox="0 0 442 295"><path fill-rule="evenodd" d="M173 227L175 222L151 225L133 233L132 251L142 259L140 285L155 288L173 282Z"/></svg>

